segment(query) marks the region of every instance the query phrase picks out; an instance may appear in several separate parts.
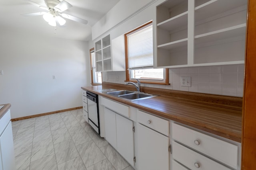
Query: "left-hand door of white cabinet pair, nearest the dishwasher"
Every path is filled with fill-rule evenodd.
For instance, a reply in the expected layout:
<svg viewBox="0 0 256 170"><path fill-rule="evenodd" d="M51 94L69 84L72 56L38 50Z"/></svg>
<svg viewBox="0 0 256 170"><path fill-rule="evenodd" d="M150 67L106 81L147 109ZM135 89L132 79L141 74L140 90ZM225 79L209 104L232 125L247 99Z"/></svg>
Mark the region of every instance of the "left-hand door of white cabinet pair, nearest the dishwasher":
<svg viewBox="0 0 256 170"><path fill-rule="evenodd" d="M105 138L106 141L114 149L117 150L116 145L116 113L110 109L104 107L104 120L105 120Z"/></svg>

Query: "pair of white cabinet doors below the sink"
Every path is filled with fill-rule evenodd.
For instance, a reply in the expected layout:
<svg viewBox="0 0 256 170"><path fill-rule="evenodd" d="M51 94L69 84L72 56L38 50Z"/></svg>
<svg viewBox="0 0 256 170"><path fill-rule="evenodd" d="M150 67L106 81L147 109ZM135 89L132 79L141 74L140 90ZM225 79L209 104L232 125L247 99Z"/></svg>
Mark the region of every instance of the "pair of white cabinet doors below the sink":
<svg viewBox="0 0 256 170"><path fill-rule="evenodd" d="M133 121L104 108L105 138L126 161L134 166Z"/></svg>

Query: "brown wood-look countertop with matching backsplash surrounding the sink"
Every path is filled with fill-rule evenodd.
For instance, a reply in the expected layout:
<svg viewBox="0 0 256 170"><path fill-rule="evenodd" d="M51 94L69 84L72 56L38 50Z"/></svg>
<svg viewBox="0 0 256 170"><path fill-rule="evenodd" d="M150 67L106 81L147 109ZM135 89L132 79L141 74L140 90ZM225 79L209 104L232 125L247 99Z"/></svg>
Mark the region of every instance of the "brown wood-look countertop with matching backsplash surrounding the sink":
<svg viewBox="0 0 256 170"><path fill-rule="evenodd" d="M141 92L158 96L130 102L99 91L102 89L136 90L134 86L103 82L102 86L88 86L82 89L214 135L241 142L242 98L141 87Z"/></svg>

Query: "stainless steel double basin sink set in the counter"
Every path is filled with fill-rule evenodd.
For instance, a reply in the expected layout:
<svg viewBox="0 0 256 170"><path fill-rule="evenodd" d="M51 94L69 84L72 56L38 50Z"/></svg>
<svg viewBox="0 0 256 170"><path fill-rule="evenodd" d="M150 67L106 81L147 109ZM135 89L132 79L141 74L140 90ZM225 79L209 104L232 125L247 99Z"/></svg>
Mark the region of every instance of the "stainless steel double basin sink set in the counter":
<svg viewBox="0 0 256 170"><path fill-rule="evenodd" d="M153 94L146 94L146 93L142 93L142 92L133 92L133 91L129 91L129 90L119 90L119 91L115 91L115 92L107 92L107 94L116 96L119 98L123 98L123 99L129 100L131 102L136 101L136 100L152 98L152 97L156 96Z"/></svg>

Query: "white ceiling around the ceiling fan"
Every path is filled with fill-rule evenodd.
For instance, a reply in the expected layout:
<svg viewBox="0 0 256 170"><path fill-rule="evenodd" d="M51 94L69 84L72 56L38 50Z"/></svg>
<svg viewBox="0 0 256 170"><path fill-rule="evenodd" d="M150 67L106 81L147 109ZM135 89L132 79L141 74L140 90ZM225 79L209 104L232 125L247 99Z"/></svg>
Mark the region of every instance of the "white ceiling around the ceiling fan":
<svg viewBox="0 0 256 170"><path fill-rule="evenodd" d="M44 4L44 0L32 0ZM61 0L60 0L61 1ZM66 19L65 27L56 27L44 21L42 16L21 16L21 14L45 11L30 4L28 0L0 0L0 30L10 30L28 35L40 34L65 39L88 41L91 27L120 0L66 0L72 4L64 13L88 20L87 25Z"/></svg>

